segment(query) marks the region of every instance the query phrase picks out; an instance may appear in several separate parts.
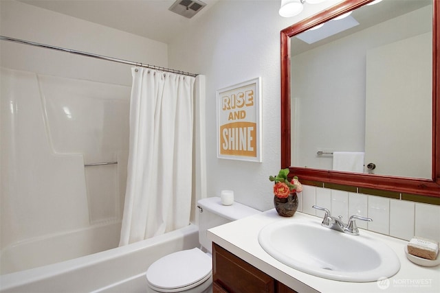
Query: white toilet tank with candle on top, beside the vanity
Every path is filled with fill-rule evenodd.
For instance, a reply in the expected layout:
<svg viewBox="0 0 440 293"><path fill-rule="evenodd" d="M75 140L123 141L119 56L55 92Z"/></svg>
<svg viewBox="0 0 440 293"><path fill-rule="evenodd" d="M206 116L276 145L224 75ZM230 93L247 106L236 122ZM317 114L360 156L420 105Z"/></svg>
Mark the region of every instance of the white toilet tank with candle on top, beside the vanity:
<svg viewBox="0 0 440 293"><path fill-rule="evenodd" d="M197 202L199 207L199 242L201 246L212 253L212 242L208 239L207 230L228 222L239 220L256 213L261 213L252 207L239 202L226 206L221 204L219 197L203 198Z"/></svg>

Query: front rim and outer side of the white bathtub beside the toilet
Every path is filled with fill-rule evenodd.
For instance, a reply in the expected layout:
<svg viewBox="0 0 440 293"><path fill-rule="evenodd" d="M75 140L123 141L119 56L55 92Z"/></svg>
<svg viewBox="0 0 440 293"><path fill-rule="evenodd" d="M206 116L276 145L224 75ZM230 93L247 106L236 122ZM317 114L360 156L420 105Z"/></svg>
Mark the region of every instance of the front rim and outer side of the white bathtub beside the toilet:
<svg viewBox="0 0 440 293"><path fill-rule="evenodd" d="M148 266L199 246L198 227L179 230L48 266L0 276L0 292L145 292Z"/></svg>

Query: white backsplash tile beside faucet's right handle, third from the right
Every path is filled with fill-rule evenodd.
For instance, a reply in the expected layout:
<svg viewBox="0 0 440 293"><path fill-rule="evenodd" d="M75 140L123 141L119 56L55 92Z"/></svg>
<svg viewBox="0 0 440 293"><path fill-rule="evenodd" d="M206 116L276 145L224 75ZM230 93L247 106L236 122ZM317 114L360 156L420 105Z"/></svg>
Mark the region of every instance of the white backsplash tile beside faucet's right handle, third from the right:
<svg viewBox="0 0 440 293"><path fill-rule="evenodd" d="M369 196L368 217L373 219L373 222L368 222L369 230L388 235L390 231L390 199Z"/></svg>

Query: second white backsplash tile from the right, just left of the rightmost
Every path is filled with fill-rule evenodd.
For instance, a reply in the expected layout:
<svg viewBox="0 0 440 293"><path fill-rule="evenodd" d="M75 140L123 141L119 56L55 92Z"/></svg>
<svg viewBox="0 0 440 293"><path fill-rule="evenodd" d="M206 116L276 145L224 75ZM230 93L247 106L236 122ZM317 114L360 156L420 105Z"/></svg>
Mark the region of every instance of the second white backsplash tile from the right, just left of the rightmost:
<svg viewBox="0 0 440 293"><path fill-rule="evenodd" d="M415 203L390 200L390 235L410 240L414 236Z"/></svg>

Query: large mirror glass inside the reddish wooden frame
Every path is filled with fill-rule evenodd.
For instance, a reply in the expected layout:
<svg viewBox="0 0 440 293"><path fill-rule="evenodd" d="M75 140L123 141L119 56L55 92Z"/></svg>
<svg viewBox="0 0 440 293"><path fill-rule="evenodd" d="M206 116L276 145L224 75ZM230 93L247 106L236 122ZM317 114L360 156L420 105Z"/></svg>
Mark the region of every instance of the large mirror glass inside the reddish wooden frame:
<svg viewBox="0 0 440 293"><path fill-rule="evenodd" d="M292 166L431 178L432 0L364 5L290 41Z"/></svg>

